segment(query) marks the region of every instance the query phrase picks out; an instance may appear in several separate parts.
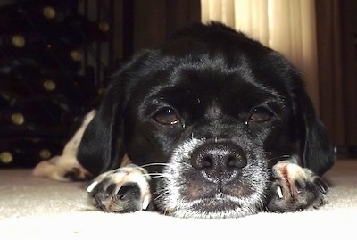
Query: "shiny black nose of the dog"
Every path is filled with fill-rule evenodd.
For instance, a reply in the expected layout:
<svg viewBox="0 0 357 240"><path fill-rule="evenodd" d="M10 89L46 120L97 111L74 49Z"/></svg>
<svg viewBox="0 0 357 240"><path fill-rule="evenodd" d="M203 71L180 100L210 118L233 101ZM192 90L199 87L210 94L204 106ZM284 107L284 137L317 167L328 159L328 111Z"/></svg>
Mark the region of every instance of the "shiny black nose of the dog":
<svg viewBox="0 0 357 240"><path fill-rule="evenodd" d="M232 142L207 143L192 153L191 165L206 178L231 178L247 164L243 149Z"/></svg>

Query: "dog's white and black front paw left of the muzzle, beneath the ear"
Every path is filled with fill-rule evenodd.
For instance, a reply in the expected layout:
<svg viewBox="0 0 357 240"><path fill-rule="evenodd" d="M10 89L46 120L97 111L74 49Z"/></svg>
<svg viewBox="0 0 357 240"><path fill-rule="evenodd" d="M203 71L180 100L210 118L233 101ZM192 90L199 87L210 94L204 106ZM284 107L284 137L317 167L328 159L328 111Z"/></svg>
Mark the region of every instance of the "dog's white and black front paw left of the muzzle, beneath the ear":
<svg viewBox="0 0 357 240"><path fill-rule="evenodd" d="M104 172L87 186L95 206L107 212L145 210L150 201L150 177L134 164Z"/></svg>

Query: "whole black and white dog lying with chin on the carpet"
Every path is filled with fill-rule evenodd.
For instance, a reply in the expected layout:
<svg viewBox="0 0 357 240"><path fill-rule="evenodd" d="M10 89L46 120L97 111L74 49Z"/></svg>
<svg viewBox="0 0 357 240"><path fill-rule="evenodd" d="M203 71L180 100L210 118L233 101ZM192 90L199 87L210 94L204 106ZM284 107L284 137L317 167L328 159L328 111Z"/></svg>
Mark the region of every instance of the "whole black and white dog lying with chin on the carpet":
<svg viewBox="0 0 357 240"><path fill-rule="evenodd" d="M335 154L301 73L219 22L135 55L83 122L34 174L92 176L102 211L226 219L327 202Z"/></svg>

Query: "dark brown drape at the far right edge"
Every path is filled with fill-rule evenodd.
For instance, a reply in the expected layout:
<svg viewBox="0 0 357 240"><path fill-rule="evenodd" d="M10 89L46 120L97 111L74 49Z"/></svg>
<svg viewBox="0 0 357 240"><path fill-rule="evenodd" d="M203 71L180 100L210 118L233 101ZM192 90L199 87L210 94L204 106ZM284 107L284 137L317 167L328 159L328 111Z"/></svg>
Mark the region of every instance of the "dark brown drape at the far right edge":
<svg viewBox="0 0 357 240"><path fill-rule="evenodd" d="M336 145L356 146L357 61L353 6L357 4L324 0L316 1L316 6L321 118Z"/></svg>

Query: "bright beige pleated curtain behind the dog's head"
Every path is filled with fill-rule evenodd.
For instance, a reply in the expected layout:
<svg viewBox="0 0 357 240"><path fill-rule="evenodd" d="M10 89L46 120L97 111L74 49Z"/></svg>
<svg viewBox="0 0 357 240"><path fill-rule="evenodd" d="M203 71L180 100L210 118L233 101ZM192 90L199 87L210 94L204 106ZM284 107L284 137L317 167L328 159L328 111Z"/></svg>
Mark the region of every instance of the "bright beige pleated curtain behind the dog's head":
<svg viewBox="0 0 357 240"><path fill-rule="evenodd" d="M285 54L302 70L319 110L315 1L201 0L201 18L226 23Z"/></svg>

